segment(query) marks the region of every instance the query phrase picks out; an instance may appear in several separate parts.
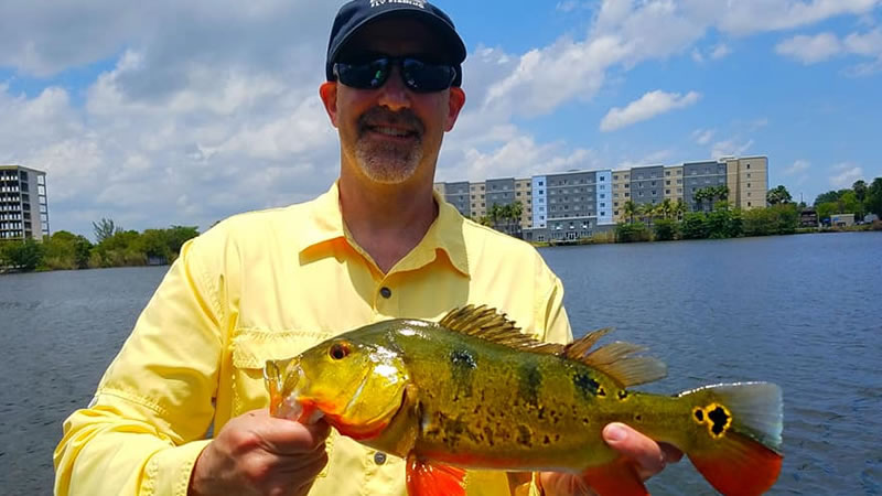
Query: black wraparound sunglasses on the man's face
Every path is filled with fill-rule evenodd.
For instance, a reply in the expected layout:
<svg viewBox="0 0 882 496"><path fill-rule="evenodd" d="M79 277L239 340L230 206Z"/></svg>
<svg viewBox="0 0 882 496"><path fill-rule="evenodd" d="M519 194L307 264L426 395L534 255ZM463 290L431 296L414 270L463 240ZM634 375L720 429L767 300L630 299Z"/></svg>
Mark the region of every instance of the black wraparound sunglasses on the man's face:
<svg viewBox="0 0 882 496"><path fill-rule="evenodd" d="M405 86L416 93L432 93L448 89L456 78L456 68L450 64L438 64L413 56L375 58L334 64L334 75L346 86L357 89L376 89L386 84L392 66L398 66Z"/></svg>

